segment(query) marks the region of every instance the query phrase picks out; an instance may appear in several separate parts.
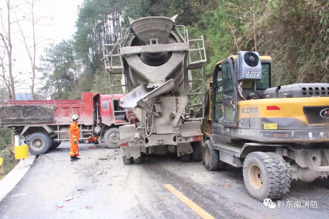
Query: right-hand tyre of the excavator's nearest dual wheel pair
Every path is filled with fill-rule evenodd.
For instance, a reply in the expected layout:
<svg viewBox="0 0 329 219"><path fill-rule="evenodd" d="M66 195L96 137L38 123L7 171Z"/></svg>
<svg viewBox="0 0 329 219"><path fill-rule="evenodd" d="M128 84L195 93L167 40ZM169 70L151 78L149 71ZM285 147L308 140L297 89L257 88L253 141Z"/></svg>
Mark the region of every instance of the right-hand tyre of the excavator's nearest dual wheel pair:
<svg viewBox="0 0 329 219"><path fill-rule="evenodd" d="M267 152L278 168L279 173L279 191L276 196L277 199L284 197L286 194L289 193L290 184L291 184L291 169L290 164L287 163L283 157L275 152Z"/></svg>

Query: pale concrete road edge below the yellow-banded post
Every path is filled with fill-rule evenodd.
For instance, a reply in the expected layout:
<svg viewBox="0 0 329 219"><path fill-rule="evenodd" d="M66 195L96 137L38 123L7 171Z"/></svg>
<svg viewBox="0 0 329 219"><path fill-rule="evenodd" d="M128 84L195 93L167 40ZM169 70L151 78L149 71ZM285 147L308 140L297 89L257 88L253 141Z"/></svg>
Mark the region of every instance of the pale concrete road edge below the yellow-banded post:
<svg viewBox="0 0 329 219"><path fill-rule="evenodd" d="M30 169L31 165L37 159L37 156L31 155L25 159L25 166L21 167L20 162L10 171L2 180L0 180L0 202L7 194L17 185L23 178L25 173Z"/></svg>

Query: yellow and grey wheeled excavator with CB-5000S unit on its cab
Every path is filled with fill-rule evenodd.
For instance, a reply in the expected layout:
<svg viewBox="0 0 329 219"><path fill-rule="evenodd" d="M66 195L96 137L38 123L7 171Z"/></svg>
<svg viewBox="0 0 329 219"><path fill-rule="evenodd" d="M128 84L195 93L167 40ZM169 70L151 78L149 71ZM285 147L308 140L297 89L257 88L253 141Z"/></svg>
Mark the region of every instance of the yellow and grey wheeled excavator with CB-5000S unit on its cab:
<svg viewBox="0 0 329 219"><path fill-rule="evenodd" d="M329 84L272 86L272 58L240 51L214 66L205 95L203 160L243 167L249 194L279 199L291 180L329 175Z"/></svg>

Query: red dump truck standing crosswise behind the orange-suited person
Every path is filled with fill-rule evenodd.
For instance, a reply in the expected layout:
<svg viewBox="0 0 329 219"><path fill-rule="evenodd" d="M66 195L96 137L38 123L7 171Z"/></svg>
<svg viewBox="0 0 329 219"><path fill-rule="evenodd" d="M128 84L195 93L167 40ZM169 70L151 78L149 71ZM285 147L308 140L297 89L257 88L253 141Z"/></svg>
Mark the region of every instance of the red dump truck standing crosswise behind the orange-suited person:
<svg viewBox="0 0 329 219"><path fill-rule="evenodd" d="M109 148L117 148L119 126L137 121L132 111L120 108L123 94L84 92L82 99L10 100L0 103L0 127L13 129L39 155L69 140L71 116L80 115L80 140L96 134Z"/></svg>

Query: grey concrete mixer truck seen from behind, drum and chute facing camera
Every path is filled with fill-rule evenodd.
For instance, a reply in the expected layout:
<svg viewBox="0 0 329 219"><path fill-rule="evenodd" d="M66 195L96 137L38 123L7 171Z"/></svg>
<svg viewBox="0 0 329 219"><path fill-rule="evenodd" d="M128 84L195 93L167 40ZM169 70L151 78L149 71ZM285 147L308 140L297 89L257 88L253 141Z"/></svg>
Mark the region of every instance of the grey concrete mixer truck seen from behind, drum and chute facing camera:
<svg viewBox="0 0 329 219"><path fill-rule="evenodd" d="M115 44L103 43L111 93L122 87L120 106L139 120L119 128L124 164L168 152L183 162L200 160L204 40L189 39L185 26L175 25L176 17L129 18L130 27Z"/></svg>

